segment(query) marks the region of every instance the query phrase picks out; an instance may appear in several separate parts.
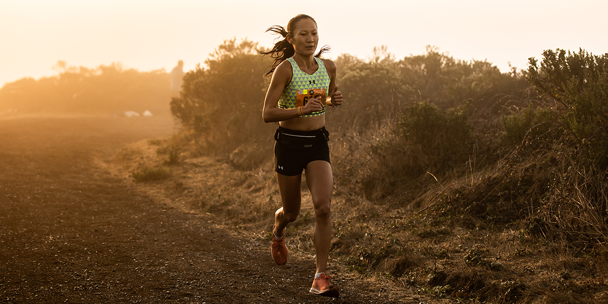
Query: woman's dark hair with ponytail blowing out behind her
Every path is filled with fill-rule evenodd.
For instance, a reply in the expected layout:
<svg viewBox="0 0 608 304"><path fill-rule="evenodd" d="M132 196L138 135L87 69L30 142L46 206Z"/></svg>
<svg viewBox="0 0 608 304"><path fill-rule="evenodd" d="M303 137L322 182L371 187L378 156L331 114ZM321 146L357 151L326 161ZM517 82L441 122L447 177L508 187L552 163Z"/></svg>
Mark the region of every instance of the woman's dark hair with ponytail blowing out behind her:
<svg viewBox="0 0 608 304"><path fill-rule="evenodd" d="M291 18L291 20L289 20L289 22L287 24L287 29L285 29L285 27L282 27L282 26L272 26L268 30L266 30L266 32L274 32L274 33L277 33L278 35L283 36L283 40L275 43L274 47L272 47L272 49L269 50L268 52L263 52L263 51L258 50L258 53L263 54L264 56L268 55L268 56L274 58L274 62L272 63L270 71L268 73L264 74L264 76L268 76L268 75L272 74L272 72L274 72L274 70L277 68L277 66L280 63L282 63L287 58L292 57L295 54L294 46L292 46L291 43L289 43L289 41L287 41L287 36L292 37L294 35L295 25L298 23L298 21L300 21L302 19L306 19L306 18L311 19L315 25L317 24L317 21L314 21L313 17L304 15L304 14L300 14L300 15L295 16L294 18ZM321 54L325 53L328 50L330 50L329 46L323 46L323 47L321 47L321 49L319 50L317 55L314 55L314 57L320 57Z"/></svg>

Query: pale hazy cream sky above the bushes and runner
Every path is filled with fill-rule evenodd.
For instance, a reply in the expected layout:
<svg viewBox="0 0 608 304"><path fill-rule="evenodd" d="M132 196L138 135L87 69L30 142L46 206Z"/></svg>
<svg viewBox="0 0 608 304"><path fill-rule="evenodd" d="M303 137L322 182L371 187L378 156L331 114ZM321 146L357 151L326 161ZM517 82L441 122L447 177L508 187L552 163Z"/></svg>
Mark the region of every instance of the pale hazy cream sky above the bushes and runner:
<svg viewBox="0 0 608 304"><path fill-rule="evenodd" d="M264 31L299 13L316 19L330 58L367 58L385 45L399 59L433 45L505 72L545 49L605 54L607 12L607 0L0 0L0 86L55 75L58 60L170 71L181 59L187 71L230 38L270 46L275 36Z"/></svg>

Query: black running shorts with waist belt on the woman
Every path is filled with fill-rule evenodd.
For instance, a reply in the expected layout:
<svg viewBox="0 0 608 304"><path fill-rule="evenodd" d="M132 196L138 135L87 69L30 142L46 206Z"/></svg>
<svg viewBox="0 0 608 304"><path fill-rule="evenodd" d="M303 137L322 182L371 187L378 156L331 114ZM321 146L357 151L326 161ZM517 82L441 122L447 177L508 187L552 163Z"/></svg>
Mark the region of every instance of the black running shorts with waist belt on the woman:
<svg viewBox="0 0 608 304"><path fill-rule="evenodd" d="M274 135L274 170L286 176L302 174L309 162L330 162L330 133L325 127L295 131L278 127Z"/></svg>

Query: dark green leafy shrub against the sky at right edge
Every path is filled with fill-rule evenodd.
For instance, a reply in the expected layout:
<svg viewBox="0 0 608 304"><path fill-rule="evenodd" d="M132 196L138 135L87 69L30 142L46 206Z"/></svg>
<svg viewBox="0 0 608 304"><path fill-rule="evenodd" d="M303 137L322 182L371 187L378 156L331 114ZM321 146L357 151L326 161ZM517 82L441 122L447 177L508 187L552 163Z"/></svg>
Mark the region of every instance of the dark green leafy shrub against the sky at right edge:
<svg viewBox="0 0 608 304"><path fill-rule="evenodd" d="M540 66L530 58L526 78L545 100L560 106L564 139L573 142L579 161L608 168L608 53L545 50Z"/></svg>

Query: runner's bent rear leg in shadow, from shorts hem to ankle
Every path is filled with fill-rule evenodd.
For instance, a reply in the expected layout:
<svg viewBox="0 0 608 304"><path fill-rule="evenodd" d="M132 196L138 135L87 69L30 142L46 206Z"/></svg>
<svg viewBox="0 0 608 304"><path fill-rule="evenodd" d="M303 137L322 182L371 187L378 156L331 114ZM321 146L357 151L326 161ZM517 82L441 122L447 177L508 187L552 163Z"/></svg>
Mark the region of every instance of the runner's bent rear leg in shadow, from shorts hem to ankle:
<svg viewBox="0 0 608 304"><path fill-rule="evenodd" d="M300 213L302 203L302 174L296 176L286 176L277 173L278 191L281 195L283 207L274 213L274 235L278 238L283 237L287 224L295 221Z"/></svg>

